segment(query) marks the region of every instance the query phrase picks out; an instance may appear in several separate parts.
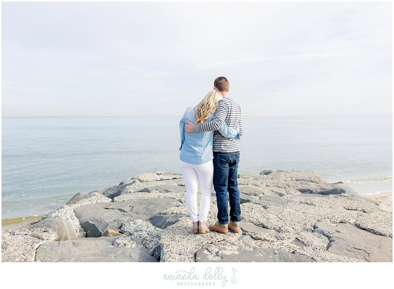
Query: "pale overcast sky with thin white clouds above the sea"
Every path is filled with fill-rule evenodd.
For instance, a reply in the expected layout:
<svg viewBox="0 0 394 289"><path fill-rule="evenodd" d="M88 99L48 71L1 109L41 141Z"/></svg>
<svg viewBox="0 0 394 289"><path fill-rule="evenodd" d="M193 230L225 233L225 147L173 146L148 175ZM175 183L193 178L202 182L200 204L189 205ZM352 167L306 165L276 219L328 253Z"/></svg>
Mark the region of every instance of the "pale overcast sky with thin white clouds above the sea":
<svg viewBox="0 0 394 289"><path fill-rule="evenodd" d="M391 115L392 3L2 2L3 116Z"/></svg>

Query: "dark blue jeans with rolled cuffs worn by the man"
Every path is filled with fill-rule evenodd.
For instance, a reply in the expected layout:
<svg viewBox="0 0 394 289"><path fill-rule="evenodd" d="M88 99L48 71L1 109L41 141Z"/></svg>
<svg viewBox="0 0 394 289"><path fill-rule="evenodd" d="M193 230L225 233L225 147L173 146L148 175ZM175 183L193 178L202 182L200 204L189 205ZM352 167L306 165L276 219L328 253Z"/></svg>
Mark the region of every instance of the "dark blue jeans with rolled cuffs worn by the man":
<svg viewBox="0 0 394 289"><path fill-rule="evenodd" d="M239 226L240 214L240 191L238 190L238 163L240 152L221 153L214 151L214 188L217 201L217 220L221 227L227 227L229 223L227 192L230 199L230 224Z"/></svg>

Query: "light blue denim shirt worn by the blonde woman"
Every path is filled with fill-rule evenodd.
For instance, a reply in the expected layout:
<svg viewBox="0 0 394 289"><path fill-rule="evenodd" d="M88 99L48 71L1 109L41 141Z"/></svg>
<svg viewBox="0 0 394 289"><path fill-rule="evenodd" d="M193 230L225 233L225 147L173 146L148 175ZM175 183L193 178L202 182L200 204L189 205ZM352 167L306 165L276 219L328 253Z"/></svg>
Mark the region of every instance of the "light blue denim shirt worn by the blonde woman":
<svg viewBox="0 0 394 289"><path fill-rule="evenodd" d="M190 164L204 164L205 162L208 162L209 160L212 160L214 158L214 154L212 153L214 132L186 132L186 120L195 123L194 113L194 108L188 108L179 122L179 158L180 160L188 162ZM206 122L211 121L213 118L214 114L210 114ZM240 134L238 133L237 129L228 127L224 121L221 128L219 129L219 132L226 138L240 138Z"/></svg>

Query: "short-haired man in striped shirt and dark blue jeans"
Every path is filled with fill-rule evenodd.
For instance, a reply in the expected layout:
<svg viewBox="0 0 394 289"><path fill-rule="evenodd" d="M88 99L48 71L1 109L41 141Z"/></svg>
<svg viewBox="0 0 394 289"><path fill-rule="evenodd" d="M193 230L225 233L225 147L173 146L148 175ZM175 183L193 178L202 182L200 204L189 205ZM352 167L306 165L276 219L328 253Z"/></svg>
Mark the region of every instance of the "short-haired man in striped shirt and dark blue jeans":
<svg viewBox="0 0 394 289"><path fill-rule="evenodd" d="M215 131L213 142L214 153L214 188L217 200L216 224L210 225L209 229L221 234L228 234L228 229L233 233L240 231L240 191L238 190L238 163L240 161L240 139L243 135L241 108L229 97L229 80L220 76L214 81L214 89L223 95L223 99L217 104L215 116L212 121L203 125L195 125L188 122L185 125L186 132ZM240 139L232 140L225 138L218 132L223 121L229 127L238 127ZM230 199L230 223L227 204L227 192Z"/></svg>

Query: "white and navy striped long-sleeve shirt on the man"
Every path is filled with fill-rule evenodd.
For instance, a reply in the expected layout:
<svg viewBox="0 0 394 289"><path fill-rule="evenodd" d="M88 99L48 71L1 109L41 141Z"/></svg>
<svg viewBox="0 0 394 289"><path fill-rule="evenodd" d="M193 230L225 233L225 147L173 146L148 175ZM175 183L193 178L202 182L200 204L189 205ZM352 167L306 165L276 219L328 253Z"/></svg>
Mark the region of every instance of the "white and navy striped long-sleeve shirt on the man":
<svg viewBox="0 0 394 289"><path fill-rule="evenodd" d="M217 104L215 116L212 121L204 123L203 125L193 125L193 132L214 131L213 151L222 153L230 153L240 151L240 139L232 140L225 138L218 132L223 121L229 127L237 127L240 125L240 139L243 135L241 108L232 98L223 97Z"/></svg>

